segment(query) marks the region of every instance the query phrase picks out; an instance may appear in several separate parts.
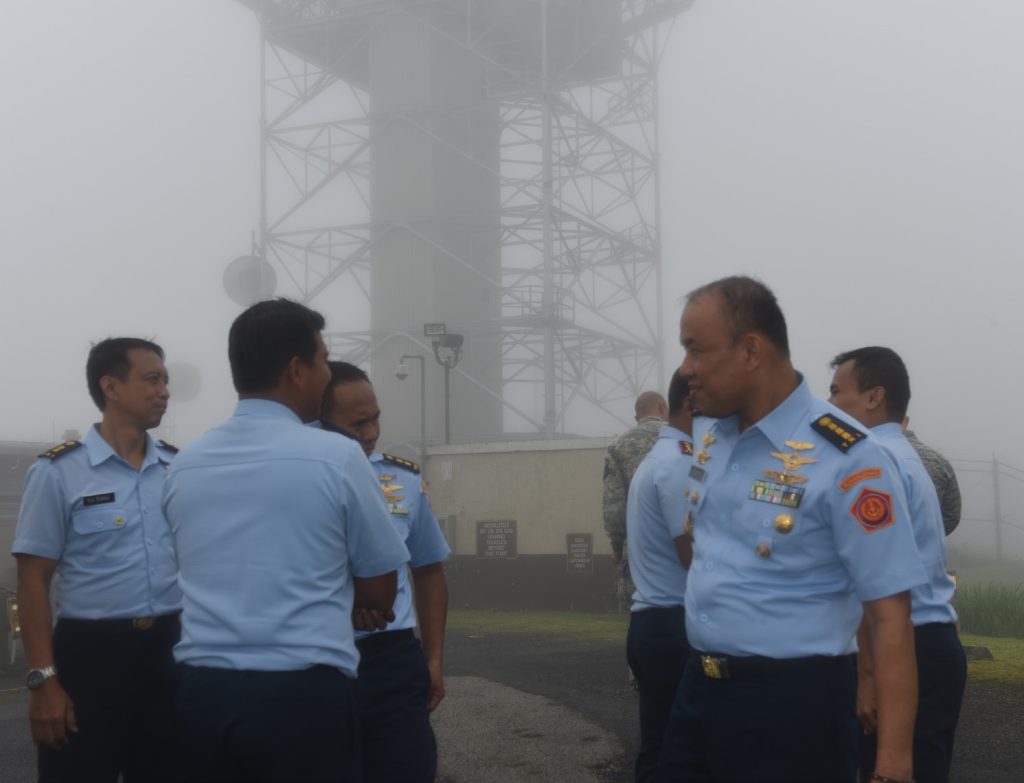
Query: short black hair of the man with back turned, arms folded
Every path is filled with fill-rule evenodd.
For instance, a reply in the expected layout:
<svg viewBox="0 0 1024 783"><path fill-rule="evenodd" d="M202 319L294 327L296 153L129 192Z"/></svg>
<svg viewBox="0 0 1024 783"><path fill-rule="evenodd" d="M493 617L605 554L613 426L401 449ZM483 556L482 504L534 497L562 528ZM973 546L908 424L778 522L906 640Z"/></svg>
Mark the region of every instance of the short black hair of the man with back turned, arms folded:
<svg viewBox="0 0 1024 783"><path fill-rule="evenodd" d="M227 334L231 381L240 394L262 392L298 356L312 364L324 316L290 299L267 299L245 310Z"/></svg>

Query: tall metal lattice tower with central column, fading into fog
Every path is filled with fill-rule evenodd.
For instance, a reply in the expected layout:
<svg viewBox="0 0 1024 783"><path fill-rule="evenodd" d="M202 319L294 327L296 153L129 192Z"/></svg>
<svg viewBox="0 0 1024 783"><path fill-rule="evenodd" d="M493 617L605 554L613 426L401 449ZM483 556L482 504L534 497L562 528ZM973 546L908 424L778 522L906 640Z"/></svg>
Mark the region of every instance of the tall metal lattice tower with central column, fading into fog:
<svg viewBox="0 0 1024 783"><path fill-rule="evenodd" d="M260 254L332 353L389 376L445 321L457 439L627 424L662 387L656 77L691 0L242 1ZM386 425L410 407L393 386Z"/></svg>

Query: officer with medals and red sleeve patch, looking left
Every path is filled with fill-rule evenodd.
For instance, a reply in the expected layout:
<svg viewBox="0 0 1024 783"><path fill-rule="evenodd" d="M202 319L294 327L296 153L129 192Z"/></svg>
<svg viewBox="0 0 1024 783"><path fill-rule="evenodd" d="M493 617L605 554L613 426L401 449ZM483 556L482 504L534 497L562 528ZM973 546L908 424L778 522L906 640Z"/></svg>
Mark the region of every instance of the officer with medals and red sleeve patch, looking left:
<svg viewBox="0 0 1024 783"><path fill-rule="evenodd" d="M810 393L763 284L726 277L691 293L680 342L700 415L683 489L693 654L658 780L851 780L862 615L879 661L872 772L909 780L909 590L925 573L892 461Z"/></svg>

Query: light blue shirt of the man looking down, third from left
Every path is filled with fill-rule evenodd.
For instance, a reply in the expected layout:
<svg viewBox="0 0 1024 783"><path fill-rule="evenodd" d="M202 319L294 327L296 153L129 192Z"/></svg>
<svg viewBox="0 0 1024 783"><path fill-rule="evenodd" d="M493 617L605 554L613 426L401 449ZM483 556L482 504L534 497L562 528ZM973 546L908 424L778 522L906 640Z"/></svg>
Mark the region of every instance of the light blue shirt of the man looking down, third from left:
<svg viewBox="0 0 1024 783"><path fill-rule="evenodd" d="M398 535L409 550L409 565L413 568L441 563L452 550L444 540L437 519L430 509L430 502L423 488L419 473L409 468L385 461L383 454L373 454L370 464L377 472L377 479L391 521ZM398 595L394 599L394 621L384 628L400 630L416 627L416 612L413 610L413 591L409 584L409 569L398 569ZM355 638L370 636L371 633L355 632Z"/></svg>

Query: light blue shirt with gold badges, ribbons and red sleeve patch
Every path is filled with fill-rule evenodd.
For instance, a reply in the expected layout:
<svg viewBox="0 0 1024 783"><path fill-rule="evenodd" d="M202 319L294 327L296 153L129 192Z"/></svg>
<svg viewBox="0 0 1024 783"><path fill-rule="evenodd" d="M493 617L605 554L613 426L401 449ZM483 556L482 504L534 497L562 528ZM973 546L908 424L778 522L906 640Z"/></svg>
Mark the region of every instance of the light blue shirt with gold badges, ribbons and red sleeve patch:
<svg viewBox="0 0 1024 783"><path fill-rule="evenodd" d="M820 434L819 421L840 432ZM851 653L861 602L927 580L892 461L803 379L742 433L734 416L698 417L693 447L686 633L694 649Z"/></svg>

